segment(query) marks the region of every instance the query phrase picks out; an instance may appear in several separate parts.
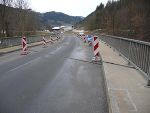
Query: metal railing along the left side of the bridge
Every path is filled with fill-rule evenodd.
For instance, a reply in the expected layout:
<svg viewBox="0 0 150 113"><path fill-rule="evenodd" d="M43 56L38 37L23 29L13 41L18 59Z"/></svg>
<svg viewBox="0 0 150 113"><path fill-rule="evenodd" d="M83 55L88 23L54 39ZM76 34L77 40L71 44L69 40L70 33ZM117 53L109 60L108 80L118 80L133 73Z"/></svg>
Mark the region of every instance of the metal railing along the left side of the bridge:
<svg viewBox="0 0 150 113"><path fill-rule="evenodd" d="M40 36L27 36L27 43L40 42L45 36L46 39L58 37L59 34L49 34L49 35L40 35ZM21 37L8 37L0 38L0 48L12 47L21 45Z"/></svg>

